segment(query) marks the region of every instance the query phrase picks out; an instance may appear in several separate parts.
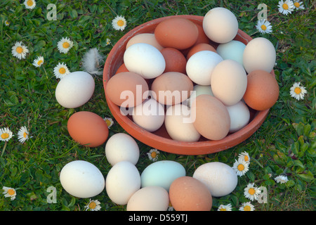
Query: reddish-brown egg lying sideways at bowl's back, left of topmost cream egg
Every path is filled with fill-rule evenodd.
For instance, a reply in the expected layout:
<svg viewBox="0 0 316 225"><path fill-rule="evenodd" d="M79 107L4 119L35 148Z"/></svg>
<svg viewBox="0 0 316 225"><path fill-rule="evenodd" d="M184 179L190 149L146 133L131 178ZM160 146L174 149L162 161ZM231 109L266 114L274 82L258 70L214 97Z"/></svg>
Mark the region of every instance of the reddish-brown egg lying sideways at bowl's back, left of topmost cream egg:
<svg viewBox="0 0 316 225"><path fill-rule="evenodd" d="M154 37L163 47L178 50L190 48L197 41L199 31L195 23L184 18L170 18L159 23Z"/></svg>

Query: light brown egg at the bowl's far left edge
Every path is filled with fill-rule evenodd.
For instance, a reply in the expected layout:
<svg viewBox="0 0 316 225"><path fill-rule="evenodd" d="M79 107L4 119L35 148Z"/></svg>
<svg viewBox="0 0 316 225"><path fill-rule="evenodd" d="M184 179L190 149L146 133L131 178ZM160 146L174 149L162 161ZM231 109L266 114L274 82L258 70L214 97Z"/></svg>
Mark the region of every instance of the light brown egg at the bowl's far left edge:
<svg viewBox="0 0 316 225"><path fill-rule="evenodd" d="M143 77L134 72L120 72L107 82L105 91L108 98L124 108L140 105L148 95L148 84Z"/></svg>

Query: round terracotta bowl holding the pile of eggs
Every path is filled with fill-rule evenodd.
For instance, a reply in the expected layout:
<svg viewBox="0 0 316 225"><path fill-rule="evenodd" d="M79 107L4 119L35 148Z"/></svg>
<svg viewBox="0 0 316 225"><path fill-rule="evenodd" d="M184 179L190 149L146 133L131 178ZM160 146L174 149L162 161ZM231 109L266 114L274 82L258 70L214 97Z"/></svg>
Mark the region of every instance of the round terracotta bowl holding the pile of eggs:
<svg viewBox="0 0 316 225"><path fill-rule="evenodd" d="M107 60L105 61L105 67L103 70L104 89L109 79L116 73L119 66L123 63L124 51L129 39L131 39L131 37L135 36L136 34L153 33L155 27L157 27L160 22L168 18L175 17L187 18L199 25L202 25L202 21L204 18L203 16L199 15L171 15L164 18L151 20L127 32L123 37L121 37L121 39L119 39L119 41L117 41L117 44L115 44L115 46L107 56ZM248 42L251 40L251 37L242 32L242 30L239 30L237 36L235 37L235 40L242 41L244 44L248 44ZM271 74L275 75L273 70ZM224 139L221 139L219 141L211 141L202 137L199 141L196 142L185 142L174 141L173 139L171 139L166 132L166 128L164 127L164 125L159 130L153 133L146 131L141 127L138 127L138 125L136 125L133 120L131 120L131 117L121 115L119 106L110 101L110 99L107 97L106 92L105 98L114 119L117 120L121 127L125 129L125 131L128 132L131 136L133 136L135 139L138 139L138 141L145 143L147 146L151 146L152 148L157 148L158 150L162 150L167 153L174 153L179 155L204 155L232 148L233 146L242 143L242 141L248 139L249 136L254 134L254 132L261 126L269 112L269 110L256 111L249 108L251 113L249 124L247 124L246 127L240 129L235 133L228 134L228 136L226 136Z"/></svg>

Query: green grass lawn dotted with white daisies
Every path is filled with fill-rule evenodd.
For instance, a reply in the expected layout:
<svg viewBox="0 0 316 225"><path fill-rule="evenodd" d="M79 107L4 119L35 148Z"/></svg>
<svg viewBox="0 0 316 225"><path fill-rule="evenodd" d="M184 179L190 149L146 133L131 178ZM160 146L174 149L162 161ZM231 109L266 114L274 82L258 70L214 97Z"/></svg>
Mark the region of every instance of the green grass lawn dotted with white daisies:
<svg viewBox="0 0 316 225"><path fill-rule="evenodd" d="M315 1L304 1L305 10L282 15L277 1L265 1L272 34L256 30L257 6L261 1L68 1L42 0L28 10L22 1L3 0L0 4L0 128L9 127L15 134L8 141L0 158L0 187L15 188L15 200L0 195L0 210L84 210L89 199L74 198L63 190L59 172L72 160L87 160L96 165L106 177L110 165L104 146L85 148L72 141L67 132L67 120L75 112L88 110L102 117L112 117L107 108L102 77L95 77L96 90L91 101L76 109L67 109L55 101L58 80L53 68L67 63L70 71L82 70L81 60L88 49L98 48L106 58L112 46L129 30L154 18L166 15L204 15L211 8L222 6L237 16L239 28L251 37L266 37L277 49L275 75L279 84L279 100L256 133L238 146L209 155L174 155L161 152L159 160L180 162L191 176L206 162L233 165L239 153L251 156L249 172L239 176L235 191L221 198L213 198L212 210L220 204L238 210L249 183L265 186L268 203L252 201L256 210L315 210ZM23 1L24 2L24 1ZM58 20L47 20L48 4L56 4ZM124 15L124 31L112 29L116 15ZM4 21L10 21L6 27ZM57 42L70 37L74 47L69 53L59 53ZM106 45L109 38L111 45ZM18 60L11 54L11 46L22 41L28 49L27 57ZM44 56L44 65L35 68L34 58ZM289 94L294 82L301 82L308 93L301 101ZM32 139L20 143L18 129L27 126ZM124 131L114 123L110 135ZM146 153L151 149L143 143L140 172L152 161ZM0 150L4 142L0 143ZM287 184L277 184L275 176L286 174ZM57 203L48 204L46 190L54 186ZM101 210L125 210L108 198L106 191L93 199L101 202Z"/></svg>

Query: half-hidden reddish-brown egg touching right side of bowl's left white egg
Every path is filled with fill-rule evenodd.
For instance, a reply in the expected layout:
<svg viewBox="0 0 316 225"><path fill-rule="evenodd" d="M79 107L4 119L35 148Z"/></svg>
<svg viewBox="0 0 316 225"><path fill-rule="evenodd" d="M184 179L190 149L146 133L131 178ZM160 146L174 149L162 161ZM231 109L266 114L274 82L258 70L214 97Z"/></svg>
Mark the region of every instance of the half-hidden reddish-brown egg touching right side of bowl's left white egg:
<svg viewBox="0 0 316 225"><path fill-rule="evenodd" d="M185 65L187 64L187 60L178 49L164 48L160 52L164 56L164 60L166 60L164 72L186 72Z"/></svg>

